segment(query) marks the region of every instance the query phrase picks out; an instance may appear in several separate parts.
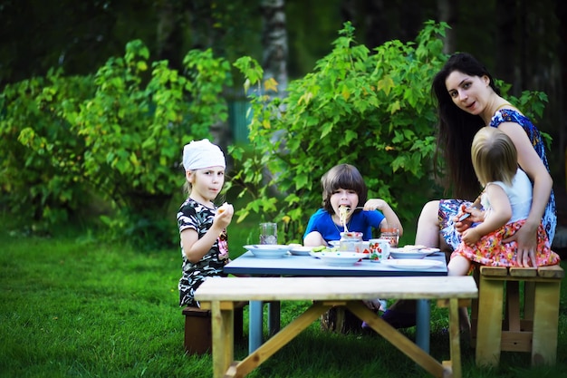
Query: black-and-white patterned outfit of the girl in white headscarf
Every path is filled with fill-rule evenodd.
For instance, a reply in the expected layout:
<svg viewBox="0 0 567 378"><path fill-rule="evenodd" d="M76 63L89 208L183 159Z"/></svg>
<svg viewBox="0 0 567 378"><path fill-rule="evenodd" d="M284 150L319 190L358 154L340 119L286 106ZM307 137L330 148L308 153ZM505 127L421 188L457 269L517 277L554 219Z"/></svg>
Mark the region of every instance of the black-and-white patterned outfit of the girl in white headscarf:
<svg viewBox="0 0 567 378"><path fill-rule="evenodd" d="M178 211L179 234L187 228L197 231L199 239L203 237L213 225L215 209L207 208L193 199L187 199ZM183 257L183 276L179 279L179 305L198 306L195 301L195 290L209 276L226 276L223 267L228 262L228 245L226 243L226 229L216 239L213 247L196 264L187 260L181 245Z"/></svg>

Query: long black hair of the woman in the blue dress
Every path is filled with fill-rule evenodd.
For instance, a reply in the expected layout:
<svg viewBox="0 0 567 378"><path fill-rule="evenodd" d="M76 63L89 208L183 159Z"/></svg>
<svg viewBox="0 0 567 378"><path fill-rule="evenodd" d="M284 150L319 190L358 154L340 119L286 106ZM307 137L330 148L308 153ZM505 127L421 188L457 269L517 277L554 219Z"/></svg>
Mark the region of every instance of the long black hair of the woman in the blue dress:
<svg viewBox="0 0 567 378"><path fill-rule="evenodd" d="M495 86L495 81L485 66L470 53L451 55L431 84L431 92L437 99L439 118L435 171L437 172L437 157L441 154L447 164L447 177L444 182L446 190L452 189L459 199L472 200L476 198L480 186L473 169L470 150L476 131L486 125L480 116L459 109L451 99L445 81L454 71L471 76L487 76L496 94L500 94L500 90Z"/></svg>

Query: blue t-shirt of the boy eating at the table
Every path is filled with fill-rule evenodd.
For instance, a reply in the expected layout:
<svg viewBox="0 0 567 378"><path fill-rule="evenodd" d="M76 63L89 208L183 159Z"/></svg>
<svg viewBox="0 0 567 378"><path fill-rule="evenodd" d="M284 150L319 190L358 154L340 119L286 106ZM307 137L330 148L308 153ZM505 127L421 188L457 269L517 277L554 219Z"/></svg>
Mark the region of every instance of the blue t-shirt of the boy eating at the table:
<svg viewBox="0 0 567 378"><path fill-rule="evenodd" d="M347 223L347 228L349 231L362 232L362 239L369 240L372 238L372 228L380 228L380 223L384 218L384 214L379 210L357 210L352 214L351 219ZM331 214L327 210L320 208L309 218L303 238L312 231L319 232L325 241L329 242L341 239L343 229L332 221Z"/></svg>

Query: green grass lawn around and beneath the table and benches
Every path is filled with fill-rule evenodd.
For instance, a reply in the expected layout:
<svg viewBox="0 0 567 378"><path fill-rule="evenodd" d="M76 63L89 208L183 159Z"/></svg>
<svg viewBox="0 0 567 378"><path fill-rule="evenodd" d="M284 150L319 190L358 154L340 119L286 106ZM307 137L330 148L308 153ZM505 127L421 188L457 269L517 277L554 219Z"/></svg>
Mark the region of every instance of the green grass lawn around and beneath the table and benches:
<svg viewBox="0 0 567 378"><path fill-rule="evenodd" d="M231 226L229 237L242 245L255 225ZM0 377L211 376L209 355L184 355L177 247L142 253L88 233L30 237L10 234L7 228L0 229L0 246ZM498 369L476 368L474 349L464 339L464 376L564 376L566 282L556 366L532 368L528 354L504 353ZM283 323L306 305L284 302ZM431 354L437 360L449 355L446 326L447 310L434 308ZM406 334L413 338L413 329ZM246 350L247 341L237 346L236 358L243 358ZM249 376L428 374L380 336L330 334L313 324Z"/></svg>

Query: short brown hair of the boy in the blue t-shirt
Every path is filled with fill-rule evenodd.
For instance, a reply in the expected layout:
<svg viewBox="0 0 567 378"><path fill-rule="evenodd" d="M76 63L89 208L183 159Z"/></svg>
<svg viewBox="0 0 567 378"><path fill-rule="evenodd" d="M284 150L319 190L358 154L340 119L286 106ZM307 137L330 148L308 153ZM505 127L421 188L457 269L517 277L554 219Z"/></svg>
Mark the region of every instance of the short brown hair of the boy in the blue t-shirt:
<svg viewBox="0 0 567 378"><path fill-rule="evenodd" d="M351 164L339 164L328 170L321 178L322 208L330 214L334 212L331 206L332 193L337 189L354 190L359 196L359 204L365 204L368 189L360 171Z"/></svg>

